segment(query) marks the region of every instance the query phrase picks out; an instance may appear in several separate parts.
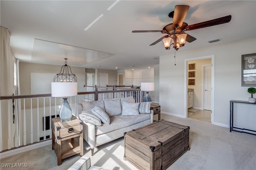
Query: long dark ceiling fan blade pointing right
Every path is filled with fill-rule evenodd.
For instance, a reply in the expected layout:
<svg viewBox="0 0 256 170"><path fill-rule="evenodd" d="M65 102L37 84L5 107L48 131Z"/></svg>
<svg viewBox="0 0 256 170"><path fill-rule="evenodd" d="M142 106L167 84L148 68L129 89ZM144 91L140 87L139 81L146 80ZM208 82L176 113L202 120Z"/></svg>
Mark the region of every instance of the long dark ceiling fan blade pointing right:
<svg viewBox="0 0 256 170"><path fill-rule="evenodd" d="M213 25L220 25L222 23L228 23L230 20L231 20L231 15L224 16L224 17L221 17L221 18L216 18L216 19L209 20L209 21L195 23L195 24L192 24L192 25L188 25L185 29L186 30L193 30L193 29L200 29L200 28L204 28L204 27L210 27L210 26L213 26Z"/></svg>

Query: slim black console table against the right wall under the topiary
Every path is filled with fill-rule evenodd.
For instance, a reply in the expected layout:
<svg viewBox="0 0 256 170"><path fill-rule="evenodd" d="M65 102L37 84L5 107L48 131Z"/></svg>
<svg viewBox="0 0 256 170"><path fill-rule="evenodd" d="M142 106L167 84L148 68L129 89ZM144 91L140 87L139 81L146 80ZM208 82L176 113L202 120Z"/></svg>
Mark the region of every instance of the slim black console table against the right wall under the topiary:
<svg viewBox="0 0 256 170"><path fill-rule="evenodd" d="M244 132L244 133L249 133L249 134L252 134L252 135L256 135L256 131L254 131L254 130L240 128L240 127L234 127L234 125L233 125L234 103L256 104L256 103L252 103L252 102L248 102L248 101L242 101L242 100L230 100L230 132L231 131L237 131L237 132ZM251 131L252 133L250 133L248 131ZM255 132L255 133L253 133L253 132Z"/></svg>

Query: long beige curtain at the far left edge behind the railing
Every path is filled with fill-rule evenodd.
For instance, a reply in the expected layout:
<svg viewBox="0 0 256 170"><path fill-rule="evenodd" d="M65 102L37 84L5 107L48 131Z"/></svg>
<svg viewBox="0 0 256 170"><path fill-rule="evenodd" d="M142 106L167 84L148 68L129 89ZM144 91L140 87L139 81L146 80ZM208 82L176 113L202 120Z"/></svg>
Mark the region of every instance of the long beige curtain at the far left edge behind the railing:
<svg viewBox="0 0 256 170"><path fill-rule="evenodd" d="M1 27L0 39L0 96L11 96L14 90L14 58L10 55L10 33ZM12 100L1 100L0 150L14 147L16 123L13 123Z"/></svg>

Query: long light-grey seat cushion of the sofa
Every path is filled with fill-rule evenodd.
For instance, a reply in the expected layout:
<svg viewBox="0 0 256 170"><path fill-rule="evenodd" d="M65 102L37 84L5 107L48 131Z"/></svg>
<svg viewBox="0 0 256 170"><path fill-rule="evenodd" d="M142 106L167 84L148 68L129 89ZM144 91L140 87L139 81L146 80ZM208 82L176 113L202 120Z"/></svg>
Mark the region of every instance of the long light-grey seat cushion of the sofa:
<svg viewBox="0 0 256 170"><path fill-rule="evenodd" d="M110 131L128 127L136 123L146 121L148 119L150 119L150 114L140 114L140 115L133 115L133 116L122 116L122 115L112 116L110 117L111 123L109 125L102 123L101 126L95 126L96 127L95 134L100 135L100 134L108 133Z"/></svg>

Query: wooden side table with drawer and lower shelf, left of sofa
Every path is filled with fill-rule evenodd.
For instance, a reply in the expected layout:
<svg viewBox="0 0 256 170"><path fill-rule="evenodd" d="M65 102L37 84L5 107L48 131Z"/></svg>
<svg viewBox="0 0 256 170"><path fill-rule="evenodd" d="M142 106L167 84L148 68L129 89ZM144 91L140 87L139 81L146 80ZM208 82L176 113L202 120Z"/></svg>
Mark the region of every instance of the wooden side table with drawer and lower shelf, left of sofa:
<svg viewBox="0 0 256 170"><path fill-rule="evenodd" d="M74 137L79 137L79 143L74 140ZM53 149L57 155L58 166L62 164L64 158L78 153L83 156L83 122L74 115L71 117L71 121L66 122L61 122L60 117L52 118Z"/></svg>

